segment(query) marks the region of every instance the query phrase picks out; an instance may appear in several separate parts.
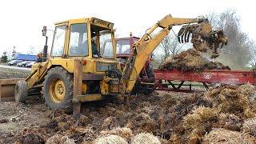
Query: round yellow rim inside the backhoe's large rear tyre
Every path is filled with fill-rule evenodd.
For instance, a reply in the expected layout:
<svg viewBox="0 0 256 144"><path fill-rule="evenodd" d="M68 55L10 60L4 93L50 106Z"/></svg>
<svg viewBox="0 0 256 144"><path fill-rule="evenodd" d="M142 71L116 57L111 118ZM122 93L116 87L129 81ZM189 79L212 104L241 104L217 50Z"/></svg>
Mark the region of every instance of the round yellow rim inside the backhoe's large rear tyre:
<svg viewBox="0 0 256 144"><path fill-rule="evenodd" d="M54 102L62 102L65 96L65 84L61 79L54 79L50 83L50 98Z"/></svg>

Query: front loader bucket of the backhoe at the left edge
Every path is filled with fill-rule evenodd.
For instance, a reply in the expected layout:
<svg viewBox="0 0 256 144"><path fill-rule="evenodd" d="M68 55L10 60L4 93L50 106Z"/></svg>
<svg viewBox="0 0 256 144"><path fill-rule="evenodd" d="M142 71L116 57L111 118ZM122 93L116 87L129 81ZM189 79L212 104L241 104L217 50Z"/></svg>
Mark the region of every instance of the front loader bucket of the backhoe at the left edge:
<svg viewBox="0 0 256 144"><path fill-rule="evenodd" d="M22 78L0 79L0 102L14 101L15 85Z"/></svg>

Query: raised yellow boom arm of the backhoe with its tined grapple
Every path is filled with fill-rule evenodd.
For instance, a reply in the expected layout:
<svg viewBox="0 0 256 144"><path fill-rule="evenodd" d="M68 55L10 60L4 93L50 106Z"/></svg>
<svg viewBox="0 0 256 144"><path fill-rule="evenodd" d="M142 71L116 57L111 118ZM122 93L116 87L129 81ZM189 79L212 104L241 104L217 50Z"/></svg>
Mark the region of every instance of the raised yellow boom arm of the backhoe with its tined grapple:
<svg viewBox="0 0 256 144"><path fill-rule="evenodd" d="M138 42L134 43L133 52L130 54L130 58L122 71L122 94L130 94L146 60L159 43L162 42L163 38L170 33L172 26L185 24L186 26L182 26L182 29L178 32L178 37L182 37L183 39L185 36L184 39L188 39L190 34L192 34L193 37L193 34L196 33L202 40L204 40L203 38L210 38L211 26L207 19L172 18L171 15L166 15L165 18L162 18L162 20L146 30L146 34L144 34ZM150 34L152 34L158 27L162 28L162 30L159 31L158 34L155 34L154 38L150 38Z"/></svg>

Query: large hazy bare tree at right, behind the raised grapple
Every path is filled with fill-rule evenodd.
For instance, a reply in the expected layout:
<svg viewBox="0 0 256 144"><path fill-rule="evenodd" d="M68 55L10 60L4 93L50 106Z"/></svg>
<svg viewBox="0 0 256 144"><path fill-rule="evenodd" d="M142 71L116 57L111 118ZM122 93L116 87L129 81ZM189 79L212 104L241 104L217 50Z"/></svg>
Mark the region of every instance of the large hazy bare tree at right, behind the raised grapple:
<svg viewBox="0 0 256 144"><path fill-rule="evenodd" d="M206 15L216 29L224 30L229 38L228 45L222 49L219 57L226 65L236 69L246 67L251 58L251 42L247 34L240 29L240 19L235 10L226 10L221 14L210 13Z"/></svg>

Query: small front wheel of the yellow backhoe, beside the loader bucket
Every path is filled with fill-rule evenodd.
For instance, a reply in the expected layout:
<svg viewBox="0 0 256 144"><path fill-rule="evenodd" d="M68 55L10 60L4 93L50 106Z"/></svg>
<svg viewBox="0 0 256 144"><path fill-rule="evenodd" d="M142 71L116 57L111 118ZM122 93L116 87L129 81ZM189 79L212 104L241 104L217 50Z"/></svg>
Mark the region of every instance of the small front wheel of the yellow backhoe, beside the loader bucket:
<svg viewBox="0 0 256 144"><path fill-rule="evenodd" d="M15 102L25 102L27 99L27 83L18 81L14 90Z"/></svg>

